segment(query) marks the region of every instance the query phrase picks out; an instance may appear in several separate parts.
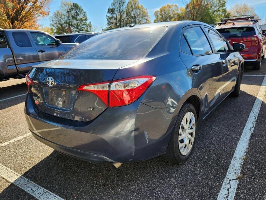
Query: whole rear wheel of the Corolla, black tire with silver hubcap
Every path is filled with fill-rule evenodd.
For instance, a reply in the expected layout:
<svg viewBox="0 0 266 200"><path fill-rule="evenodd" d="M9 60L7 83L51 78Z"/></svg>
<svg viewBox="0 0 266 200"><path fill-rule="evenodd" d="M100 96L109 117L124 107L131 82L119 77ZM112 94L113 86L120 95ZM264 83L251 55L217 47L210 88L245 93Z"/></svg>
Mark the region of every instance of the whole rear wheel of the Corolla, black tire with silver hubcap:
<svg viewBox="0 0 266 200"><path fill-rule="evenodd" d="M187 116L189 117L190 121L187 120ZM196 133L198 128L197 121L198 119L194 106L190 103L184 103L179 111L177 121L172 130L166 153L163 155L164 159L173 163L180 164L184 163L188 159L195 146L197 135ZM188 127L184 127L187 126L187 123L189 123ZM184 133L185 131L186 133ZM179 139L182 137L184 138Z"/></svg>

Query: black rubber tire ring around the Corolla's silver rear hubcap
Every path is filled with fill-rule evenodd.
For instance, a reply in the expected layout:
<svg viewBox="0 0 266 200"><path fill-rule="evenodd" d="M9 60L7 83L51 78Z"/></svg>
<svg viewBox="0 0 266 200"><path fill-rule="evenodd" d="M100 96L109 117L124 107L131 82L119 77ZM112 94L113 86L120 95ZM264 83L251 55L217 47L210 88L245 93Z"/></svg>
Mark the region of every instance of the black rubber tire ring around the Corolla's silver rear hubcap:
<svg viewBox="0 0 266 200"><path fill-rule="evenodd" d="M185 114L187 112L192 112L194 114L194 116L195 116L196 131L195 131L195 137L194 137L194 142L193 142L193 145L192 145L192 149L190 150L190 152L187 155L184 156L184 155L182 155L180 153L180 150L179 150L178 136L179 136L179 127L181 125L181 121L182 121L183 117L185 116ZM196 110L195 110L194 106L192 104L190 104L190 103L183 104L183 107L181 108L181 110L179 112L179 116L177 118L174 130L173 130L174 131L173 134L175 135L175 137L174 137L174 141L175 141L174 148L175 148L175 152L176 152L176 158L179 161L179 163L185 162L188 159L188 157L190 156L190 154L192 153L192 151L194 149L194 146L195 146L195 142L196 142L197 129L198 129L198 119L197 119L197 114L196 114Z"/></svg>

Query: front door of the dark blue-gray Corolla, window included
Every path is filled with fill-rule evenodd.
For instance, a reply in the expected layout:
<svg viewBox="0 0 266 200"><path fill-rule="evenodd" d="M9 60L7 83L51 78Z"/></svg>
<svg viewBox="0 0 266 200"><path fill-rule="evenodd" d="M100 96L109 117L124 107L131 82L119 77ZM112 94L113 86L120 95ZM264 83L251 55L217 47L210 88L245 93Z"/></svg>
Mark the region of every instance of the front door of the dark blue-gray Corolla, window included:
<svg viewBox="0 0 266 200"><path fill-rule="evenodd" d="M223 84L221 86L221 98L225 98L234 89L238 77L238 52L232 52L229 49L226 39L217 31L205 27L206 34L213 44L215 52L221 59L220 64L223 71Z"/></svg>

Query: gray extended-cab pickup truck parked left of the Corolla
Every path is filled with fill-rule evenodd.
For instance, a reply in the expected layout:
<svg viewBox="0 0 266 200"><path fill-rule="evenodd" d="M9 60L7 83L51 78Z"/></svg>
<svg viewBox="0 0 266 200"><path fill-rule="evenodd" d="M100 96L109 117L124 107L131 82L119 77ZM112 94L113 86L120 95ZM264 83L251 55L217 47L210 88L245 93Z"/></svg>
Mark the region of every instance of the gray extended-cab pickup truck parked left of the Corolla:
<svg viewBox="0 0 266 200"><path fill-rule="evenodd" d="M0 30L0 81L25 78L32 65L53 60L76 45L62 44L42 31Z"/></svg>

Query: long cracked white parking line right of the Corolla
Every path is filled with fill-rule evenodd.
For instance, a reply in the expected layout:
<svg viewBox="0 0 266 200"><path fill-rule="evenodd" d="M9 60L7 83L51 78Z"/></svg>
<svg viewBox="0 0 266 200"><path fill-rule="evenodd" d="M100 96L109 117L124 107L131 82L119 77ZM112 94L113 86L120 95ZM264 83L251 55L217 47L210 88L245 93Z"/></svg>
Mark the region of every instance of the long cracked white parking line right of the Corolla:
<svg viewBox="0 0 266 200"><path fill-rule="evenodd" d="M238 142L238 145L236 146L234 156L231 160L225 180L223 181L223 185L217 197L218 200L222 199L233 200L235 197L236 187L238 184L237 176L239 176L241 172L243 157L246 155L246 150L248 148L250 136L252 135L254 127L256 125L256 120L259 111L261 109L261 103L265 95L265 90L266 90L266 75L264 76L259 93L257 95L257 99L255 100L253 108L250 112L248 121L246 122L244 130Z"/></svg>

